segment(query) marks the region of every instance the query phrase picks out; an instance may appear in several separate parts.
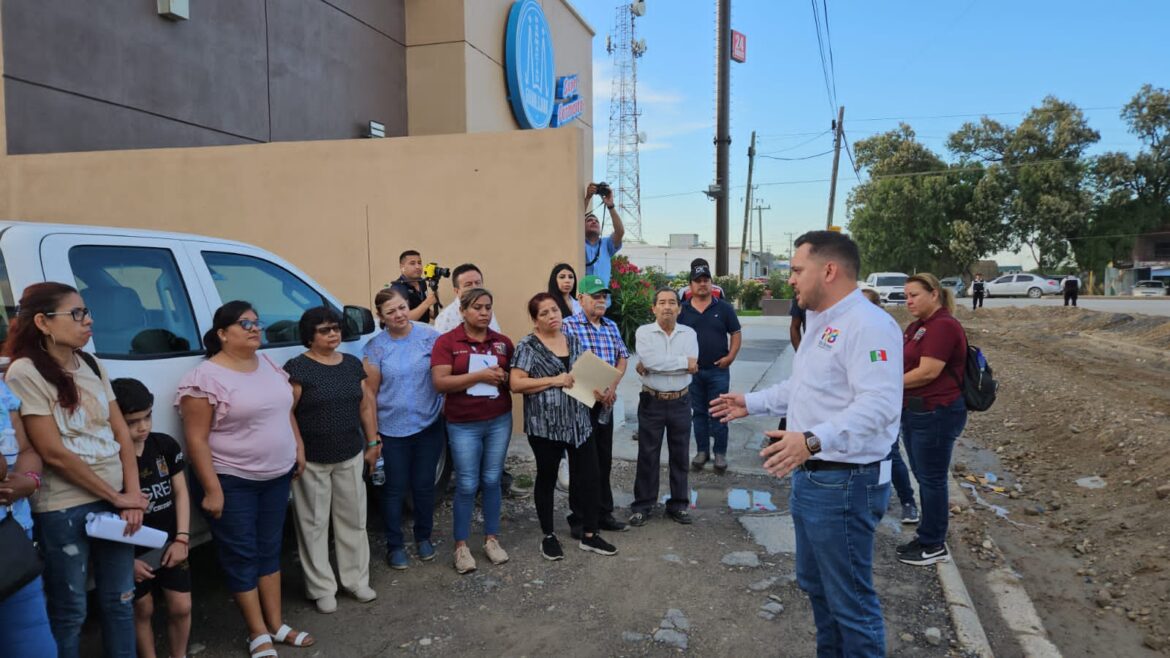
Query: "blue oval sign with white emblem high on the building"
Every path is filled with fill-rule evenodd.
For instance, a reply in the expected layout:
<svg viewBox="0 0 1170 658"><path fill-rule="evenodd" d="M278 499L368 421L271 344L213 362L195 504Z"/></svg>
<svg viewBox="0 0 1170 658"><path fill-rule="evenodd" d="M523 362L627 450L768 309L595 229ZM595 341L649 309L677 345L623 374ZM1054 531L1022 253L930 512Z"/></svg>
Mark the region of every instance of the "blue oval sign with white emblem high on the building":
<svg viewBox="0 0 1170 658"><path fill-rule="evenodd" d="M517 0L504 33L508 102L521 128L548 128L556 101L552 33L537 0Z"/></svg>

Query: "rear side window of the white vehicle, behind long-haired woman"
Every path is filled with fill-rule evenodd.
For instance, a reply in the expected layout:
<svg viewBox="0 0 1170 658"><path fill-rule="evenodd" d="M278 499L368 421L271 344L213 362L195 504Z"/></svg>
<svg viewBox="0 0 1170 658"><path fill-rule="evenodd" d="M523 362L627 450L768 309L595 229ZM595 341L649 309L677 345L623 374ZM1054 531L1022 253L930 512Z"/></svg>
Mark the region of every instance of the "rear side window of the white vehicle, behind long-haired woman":
<svg viewBox="0 0 1170 658"><path fill-rule="evenodd" d="M191 297L170 249L73 247L69 267L94 314L98 356L157 357L202 349Z"/></svg>

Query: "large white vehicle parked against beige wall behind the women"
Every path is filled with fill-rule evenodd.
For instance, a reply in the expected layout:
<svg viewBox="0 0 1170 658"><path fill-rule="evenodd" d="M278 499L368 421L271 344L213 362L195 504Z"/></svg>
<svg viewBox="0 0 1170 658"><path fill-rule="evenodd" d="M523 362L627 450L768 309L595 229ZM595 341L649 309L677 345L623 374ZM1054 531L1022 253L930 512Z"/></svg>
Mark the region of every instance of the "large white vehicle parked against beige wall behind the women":
<svg viewBox="0 0 1170 658"><path fill-rule="evenodd" d="M111 378L146 384L154 393L154 431L180 440L174 392L184 373L205 358L202 335L225 302L246 300L256 307L267 325L262 350L277 364L304 351L298 322L309 308L343 311L344 352L360 357L376 330L369 309L343 306L296 267L252 245L133 228L0 221L0 342L23 289L43 281L81 292L94 314L87 351L102 358ZM193 521L202 529L201 515Z"/></svg>

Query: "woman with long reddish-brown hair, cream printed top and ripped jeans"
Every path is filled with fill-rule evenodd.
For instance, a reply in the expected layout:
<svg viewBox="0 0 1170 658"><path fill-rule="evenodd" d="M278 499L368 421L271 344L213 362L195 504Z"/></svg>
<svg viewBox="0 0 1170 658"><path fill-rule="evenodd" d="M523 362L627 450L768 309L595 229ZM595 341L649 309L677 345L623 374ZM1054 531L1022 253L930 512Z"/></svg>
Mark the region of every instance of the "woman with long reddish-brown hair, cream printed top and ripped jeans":
<svg viewBox="0 0 1170 658"><path fill-rule="evenodd" d="M110 378L81 351L94 318L77 289L64 283L29 286L19 308L5 345L13 359L5 379L21 399L25 430L44 462L32 498L33 532L44 550L56 652L64 658L80 653L92 563L104 653L135 656L133 546L85 534L87 515L105 512L121 514L126 534L133 534L146 508Z"/></svg>

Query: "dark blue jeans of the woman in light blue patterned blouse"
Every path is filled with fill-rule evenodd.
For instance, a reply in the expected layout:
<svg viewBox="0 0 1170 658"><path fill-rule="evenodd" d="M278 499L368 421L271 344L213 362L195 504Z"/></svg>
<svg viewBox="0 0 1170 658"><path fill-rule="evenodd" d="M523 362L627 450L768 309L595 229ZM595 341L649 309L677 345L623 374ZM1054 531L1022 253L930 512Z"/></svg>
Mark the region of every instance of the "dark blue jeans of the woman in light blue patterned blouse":
<svg viewBox="0 0 1170 658"><path fill-rule="evenodd" d="M435 468L447 440L440 416L428 427L410 437L383 437L381 459L386 484L381 486L381 518L386 523L386 550L406 543L402 536L402 501L411 492L414 503L414 541L429 541L434 528Z"/></svg>

